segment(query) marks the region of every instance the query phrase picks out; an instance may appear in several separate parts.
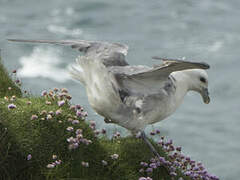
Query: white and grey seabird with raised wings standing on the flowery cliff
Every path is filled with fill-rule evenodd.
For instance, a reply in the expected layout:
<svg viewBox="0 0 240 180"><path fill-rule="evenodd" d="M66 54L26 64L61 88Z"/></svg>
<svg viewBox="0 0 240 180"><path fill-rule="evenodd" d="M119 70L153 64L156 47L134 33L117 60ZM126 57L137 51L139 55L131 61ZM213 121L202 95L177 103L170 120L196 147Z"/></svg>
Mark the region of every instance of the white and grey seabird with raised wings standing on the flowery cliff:
<svg viewBox="0 0 240 180"><path fill-rule="evenodd" d="M26 43L67 45L83 52L71 67L71 75L86 88L92 108L105 119L133 134L140 133L151 151L159 154L146 138L144 129L159 122L182 103L189 91L201 94L204 103L210 102L208 75L209 65L176 59L162 60L153 67L129 65L125 60L128 46L119 43L85 40L21 40Z"/></svg>

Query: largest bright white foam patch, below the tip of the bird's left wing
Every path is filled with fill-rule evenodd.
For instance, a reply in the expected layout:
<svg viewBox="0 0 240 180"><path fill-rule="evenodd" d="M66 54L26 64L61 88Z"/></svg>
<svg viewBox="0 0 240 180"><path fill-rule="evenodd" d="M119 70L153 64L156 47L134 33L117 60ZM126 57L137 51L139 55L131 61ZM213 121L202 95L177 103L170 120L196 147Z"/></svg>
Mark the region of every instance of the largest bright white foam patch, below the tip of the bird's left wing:
<svg viewBox="0 0 240 180"><path fill-rule="evenodd" d="M18 75L23 78L47 78L59 83L71 79L66 68L61 68L61 58L53 48L35 47L29 56L19 59L22 67Z"/></svg>

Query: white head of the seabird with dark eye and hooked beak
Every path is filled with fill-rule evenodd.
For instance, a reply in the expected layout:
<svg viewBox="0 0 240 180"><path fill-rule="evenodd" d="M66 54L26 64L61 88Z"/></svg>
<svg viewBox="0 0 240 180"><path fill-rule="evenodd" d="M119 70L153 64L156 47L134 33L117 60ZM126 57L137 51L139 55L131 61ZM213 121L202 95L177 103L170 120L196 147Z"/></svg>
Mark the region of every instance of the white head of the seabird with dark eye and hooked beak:
<svg viewBox="0 0 240 180"><path fill-rule="evenodd" d="M183 71L187 76L188 90L196 91L201 94L203 102L208 104L210 97L208 93L208 75L203 69L191 69Z"/></svg>

